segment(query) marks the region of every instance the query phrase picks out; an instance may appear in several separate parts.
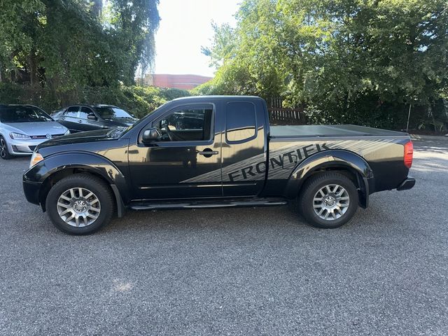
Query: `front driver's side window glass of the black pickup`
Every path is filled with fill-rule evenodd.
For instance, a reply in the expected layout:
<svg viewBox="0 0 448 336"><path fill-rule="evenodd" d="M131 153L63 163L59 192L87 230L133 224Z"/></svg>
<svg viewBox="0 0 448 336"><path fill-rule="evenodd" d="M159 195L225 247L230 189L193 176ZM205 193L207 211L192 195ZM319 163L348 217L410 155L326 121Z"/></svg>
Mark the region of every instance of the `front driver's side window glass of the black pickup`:
<svg viewBox="0 0 448 336"><path fill-rule="evenodd" d="M175 110L153 124L160 141L203 141L211 139L212 106Z"/></svg>

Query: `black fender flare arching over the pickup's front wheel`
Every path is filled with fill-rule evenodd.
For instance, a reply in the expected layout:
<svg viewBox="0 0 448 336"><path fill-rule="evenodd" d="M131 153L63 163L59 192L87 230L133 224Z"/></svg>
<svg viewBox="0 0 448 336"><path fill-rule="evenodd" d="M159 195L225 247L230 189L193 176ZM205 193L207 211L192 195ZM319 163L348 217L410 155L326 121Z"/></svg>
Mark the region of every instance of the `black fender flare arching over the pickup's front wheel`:
<svg viewBox="0 0 448 336"><path fill-rule="evenodd" d="M50 155L25 172L23 181L45 184L50 176L67 169L79 169L102 176L112 186L114 193L116 192L114 186L116 186L120 197L123 200L128 200L129 190L123 173L113 162L94 153L76 151Z"/></svg>

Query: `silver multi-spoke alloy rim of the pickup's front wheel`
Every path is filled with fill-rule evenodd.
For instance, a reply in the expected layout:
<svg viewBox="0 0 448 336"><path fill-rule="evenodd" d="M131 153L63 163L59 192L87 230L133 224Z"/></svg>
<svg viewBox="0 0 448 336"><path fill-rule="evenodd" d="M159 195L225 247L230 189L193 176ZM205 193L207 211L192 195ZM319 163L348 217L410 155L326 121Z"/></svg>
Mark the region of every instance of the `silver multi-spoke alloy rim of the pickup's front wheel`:
<svg viewBox="0 0 448 336"><path fill-rule="evenodd" d="M92 225L101 212L97 195L85 188L64 191L57 200L57 213L65 223L82 228Z"/></svg>

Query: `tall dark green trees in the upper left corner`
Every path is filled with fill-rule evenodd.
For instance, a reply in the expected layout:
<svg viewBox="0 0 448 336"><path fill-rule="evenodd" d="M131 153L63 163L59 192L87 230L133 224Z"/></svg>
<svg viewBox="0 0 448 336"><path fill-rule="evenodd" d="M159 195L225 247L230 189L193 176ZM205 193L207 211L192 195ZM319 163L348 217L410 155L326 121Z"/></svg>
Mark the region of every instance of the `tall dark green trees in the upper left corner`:
<svg viewBox="0 0 448 336"><path fill-rule="evenodd" d="M134 83L154 59L158 0L0 0L0 82L50 90Z"/></svg>

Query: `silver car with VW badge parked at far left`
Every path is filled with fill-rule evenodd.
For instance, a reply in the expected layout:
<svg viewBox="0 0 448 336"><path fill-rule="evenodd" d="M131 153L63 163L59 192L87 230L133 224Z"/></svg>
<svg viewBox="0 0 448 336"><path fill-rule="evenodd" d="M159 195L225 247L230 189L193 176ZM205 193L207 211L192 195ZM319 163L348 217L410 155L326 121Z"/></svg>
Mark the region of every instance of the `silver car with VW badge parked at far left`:
<svg viewBox="0 0 448 336"><path fill-rule="evenodd" d="M31 155L43 141L69 130L32 105L0 105L0 157Z"/></svg>

